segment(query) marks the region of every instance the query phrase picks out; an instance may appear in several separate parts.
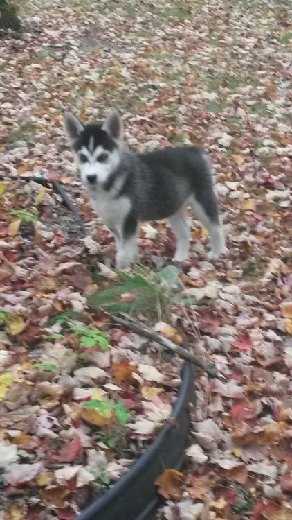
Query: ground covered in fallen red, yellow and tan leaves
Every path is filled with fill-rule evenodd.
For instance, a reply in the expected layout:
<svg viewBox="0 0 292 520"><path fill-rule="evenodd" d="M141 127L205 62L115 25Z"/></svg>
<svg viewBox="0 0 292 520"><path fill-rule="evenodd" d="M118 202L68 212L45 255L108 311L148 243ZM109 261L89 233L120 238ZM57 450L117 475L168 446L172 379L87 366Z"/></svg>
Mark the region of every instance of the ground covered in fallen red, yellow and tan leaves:
<svg viewBox="0 0 292 520"><path fill-rule="evenodd" d="M0 41L1 175L64 182L88 235L51 190L1 181L3 519L74 518L127 470L179 387L176 358L88 307L119 278L62 112L100 120L113 106L133 150L208 148L228 244L212 265L195 226L176 298L161 306L158 293L148 309L176 343L179 315L220 374L197 376L188 467L158 480L159 515L292 519L291 11L288 0L21 2L23 31ZM165 223L141 227L144 264L159 271L173 250ZM140 313L139 294L116 292L117 309Z"/></svg>

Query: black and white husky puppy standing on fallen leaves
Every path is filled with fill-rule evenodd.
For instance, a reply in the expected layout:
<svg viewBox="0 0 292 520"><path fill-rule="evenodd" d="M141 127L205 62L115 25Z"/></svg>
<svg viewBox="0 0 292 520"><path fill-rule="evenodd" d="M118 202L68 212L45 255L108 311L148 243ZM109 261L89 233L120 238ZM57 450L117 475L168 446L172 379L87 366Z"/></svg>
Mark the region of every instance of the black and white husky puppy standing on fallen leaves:
<svg viewBox="0 0 292 520"><path fill-rule="evenodd" d="M64 127L91 205L116 239L117 269L135 261L139 223L147 220L167 218L177 239L174 261L188 259L188 205L208 229L210 257L219 257L225 247L223 227L205 150L184 146L126 152L122 119L115 110L103 124L85 126L65 112Z"/></svg>

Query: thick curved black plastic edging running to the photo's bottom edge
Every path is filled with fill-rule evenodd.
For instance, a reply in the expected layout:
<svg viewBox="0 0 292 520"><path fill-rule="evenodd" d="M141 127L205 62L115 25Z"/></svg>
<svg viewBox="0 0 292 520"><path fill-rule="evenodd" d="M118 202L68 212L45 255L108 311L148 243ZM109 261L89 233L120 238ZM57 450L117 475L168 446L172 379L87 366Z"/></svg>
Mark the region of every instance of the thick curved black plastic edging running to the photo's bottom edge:
<svg viewBox="0 0 292 520"><path fill-rule="evenodd" d="M185 363L172 416L125 476L82 512L76 520L144 520L158 503L156 478L179 469L188 445L188 403L194 403L192 363Z"/></svg>

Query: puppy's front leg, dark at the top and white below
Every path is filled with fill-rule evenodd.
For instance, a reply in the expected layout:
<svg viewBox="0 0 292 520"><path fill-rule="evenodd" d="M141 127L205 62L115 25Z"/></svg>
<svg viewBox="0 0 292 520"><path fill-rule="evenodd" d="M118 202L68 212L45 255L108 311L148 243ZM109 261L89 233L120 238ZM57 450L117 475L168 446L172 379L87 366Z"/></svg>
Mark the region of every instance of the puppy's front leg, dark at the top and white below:
<svg viewBox="0 0 292 520"><path fill-rule="evenodd" d="M128 215L121 231L116 236L116 269L126 269L134 263L138 252L137 247L138 221Z"/></svg>

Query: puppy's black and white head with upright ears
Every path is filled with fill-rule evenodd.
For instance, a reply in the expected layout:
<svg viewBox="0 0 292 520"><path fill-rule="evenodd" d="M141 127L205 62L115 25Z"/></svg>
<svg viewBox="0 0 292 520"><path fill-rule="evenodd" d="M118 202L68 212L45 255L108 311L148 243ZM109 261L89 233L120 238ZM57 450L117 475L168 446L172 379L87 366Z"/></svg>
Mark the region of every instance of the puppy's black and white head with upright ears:
<svg viewBox="0 0 292 520"><path fill-rule="evenodd" d="M65 112L64 127L84 185L105 184L120 162L123 128L118 112L113 110L103 124L85 126Z"/></svg>

